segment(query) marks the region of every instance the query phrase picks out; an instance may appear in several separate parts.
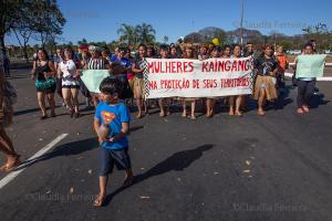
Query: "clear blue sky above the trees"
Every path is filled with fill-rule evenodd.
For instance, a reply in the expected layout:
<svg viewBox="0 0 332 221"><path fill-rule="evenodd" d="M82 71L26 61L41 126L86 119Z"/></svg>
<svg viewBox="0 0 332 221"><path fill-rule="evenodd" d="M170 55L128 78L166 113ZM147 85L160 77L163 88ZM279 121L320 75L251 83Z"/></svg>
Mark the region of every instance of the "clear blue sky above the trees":
<svg viewBox="0 0 332 221"><path fill-rule="evenodd" d="M167 35L176 41L206 27L224 30L238 28L240 0L58 0L66 18L63 41L111 42L118 38L122 23L132 25L149 23L158 41ZM286 34L302 33L302 28L318 22L332 29L330 0L245 0L245 28L263 34L271 31ZM6 38L7 44L17 44L14 35ZM31 43L35 43L31 41Z"/></svg>

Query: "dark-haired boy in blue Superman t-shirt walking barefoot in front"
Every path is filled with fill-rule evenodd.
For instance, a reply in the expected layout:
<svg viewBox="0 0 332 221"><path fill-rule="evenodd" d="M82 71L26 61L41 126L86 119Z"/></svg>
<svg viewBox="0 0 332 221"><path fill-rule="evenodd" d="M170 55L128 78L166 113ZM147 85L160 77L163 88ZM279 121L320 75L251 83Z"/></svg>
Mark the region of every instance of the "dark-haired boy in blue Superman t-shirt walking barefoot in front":
<svg viewBox="0 0 332 221"><path fill-rule="evenodd" d="M102 101L96 108L94 116L94 129L101 144L101 171L100 193L94 206L102 207L106 197L108 173L113 171L114 165L120 170L125 170L123 187L133 182L131 158L128 155L128 139L126 134L129 130L131 115L128 108L118 101L122 83L112 77L103 80L100 86ZM102 133L102 129L104 133ZM104 136L105 131L108 136Z"/></svg>

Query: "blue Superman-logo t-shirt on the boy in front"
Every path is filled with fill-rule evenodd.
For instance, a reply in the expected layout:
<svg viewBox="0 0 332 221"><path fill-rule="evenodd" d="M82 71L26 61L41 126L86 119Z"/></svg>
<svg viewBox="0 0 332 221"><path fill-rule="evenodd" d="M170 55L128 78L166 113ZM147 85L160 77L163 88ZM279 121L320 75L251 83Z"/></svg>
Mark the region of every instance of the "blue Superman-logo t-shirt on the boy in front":
<svg viewBox="0 0 332 221"><path fill-rule="evenodd" d="M122 123L129 123L131 115L128 108L123 104L108 105L101 102L97 105L94 117L101 120L101 124L108 124L110 138L117 135L122 129ZM108 149L124 149L128 147L128 139L126 136L116 140L115 143L103 141L102 147Z"/></svg>

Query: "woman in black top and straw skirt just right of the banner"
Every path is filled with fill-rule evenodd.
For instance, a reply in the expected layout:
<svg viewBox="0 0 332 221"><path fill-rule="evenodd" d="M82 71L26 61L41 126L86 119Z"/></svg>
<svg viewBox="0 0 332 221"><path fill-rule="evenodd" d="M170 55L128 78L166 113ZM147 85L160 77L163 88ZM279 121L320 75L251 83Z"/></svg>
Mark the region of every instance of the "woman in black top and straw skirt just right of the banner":
<svg viewBox="0 0 332 221"><path fill-rule="evenodd" d="M273 46L266 44L262 56L255 60L257 77L253 88L253 97L258 101L258 115L264 116L266 101L273 101L278 97L276 90L276 75L278 73L278 62L273 57Z"/></svg>

